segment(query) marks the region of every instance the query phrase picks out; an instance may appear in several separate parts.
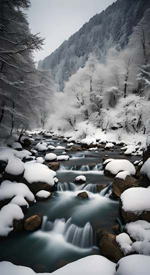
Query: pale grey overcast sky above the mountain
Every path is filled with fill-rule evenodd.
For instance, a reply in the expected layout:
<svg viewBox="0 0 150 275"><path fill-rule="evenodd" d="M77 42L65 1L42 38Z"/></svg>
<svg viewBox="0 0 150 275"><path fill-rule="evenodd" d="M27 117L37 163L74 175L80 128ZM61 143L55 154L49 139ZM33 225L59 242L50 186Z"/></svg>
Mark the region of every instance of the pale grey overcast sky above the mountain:
<svg viewBox="0 0 150 275"><path fill-rule="evenodd" d="M28 21L33 33L45 37L43 50L35 54L43 59L77 31L94 14L115 0L31 0Z"/></svg>

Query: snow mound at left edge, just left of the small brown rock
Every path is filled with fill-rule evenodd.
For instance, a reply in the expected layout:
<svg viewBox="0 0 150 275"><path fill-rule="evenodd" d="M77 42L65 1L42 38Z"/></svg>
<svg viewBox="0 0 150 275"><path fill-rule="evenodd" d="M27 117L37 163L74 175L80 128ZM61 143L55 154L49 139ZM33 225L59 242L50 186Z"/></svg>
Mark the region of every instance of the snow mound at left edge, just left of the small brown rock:
<svg viewBox="0 0 150 275"><path fill-rule="evenodd" d="M23 217L23 212L18 205L12 203L4 205L0 210L0 236L7 236L13 230L13 220L23 219Z"/></svg>

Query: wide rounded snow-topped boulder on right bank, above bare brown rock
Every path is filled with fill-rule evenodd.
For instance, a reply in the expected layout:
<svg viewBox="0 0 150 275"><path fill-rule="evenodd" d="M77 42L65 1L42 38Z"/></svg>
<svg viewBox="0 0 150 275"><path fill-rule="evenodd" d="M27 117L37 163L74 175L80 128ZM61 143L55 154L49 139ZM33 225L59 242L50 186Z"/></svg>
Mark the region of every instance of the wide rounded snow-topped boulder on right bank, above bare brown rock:
<svg viewBox="0 0 150 275"><path fill-rule="evenodd" d="M134 165L127 159L114 159L108 162L104 169L107 175L116 175L120 171L128 171L130 175L136 172Z"/></svg>

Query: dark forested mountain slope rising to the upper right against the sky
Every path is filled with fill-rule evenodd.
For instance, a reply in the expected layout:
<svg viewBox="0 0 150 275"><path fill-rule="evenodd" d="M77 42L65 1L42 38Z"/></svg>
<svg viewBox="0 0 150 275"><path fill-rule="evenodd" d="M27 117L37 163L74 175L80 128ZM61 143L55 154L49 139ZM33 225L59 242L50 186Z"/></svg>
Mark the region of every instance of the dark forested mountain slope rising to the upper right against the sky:
<svg viewBox="0 0 150 275"><path fill-rule="evenodd" d="M54 52L40 60L38 68L50 69L58 90L63 90L64 82L79 67L84 66L89 53L94 52L104 62L108 48L114 44L124 47L133 27L149 7L149 0L113 2L104 11L94 15Z"/></svg>

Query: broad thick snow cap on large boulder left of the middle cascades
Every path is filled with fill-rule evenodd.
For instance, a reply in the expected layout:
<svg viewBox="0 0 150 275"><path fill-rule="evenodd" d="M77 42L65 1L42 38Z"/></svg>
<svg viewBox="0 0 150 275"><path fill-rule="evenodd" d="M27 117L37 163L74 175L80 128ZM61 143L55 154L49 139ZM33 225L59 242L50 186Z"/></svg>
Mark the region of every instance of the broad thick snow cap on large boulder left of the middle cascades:
<svg viewBox="0 0 150 275"><path fill-rule="evenodd" d="M51 186L54 185L54 177L56 176L56 172L50 170L46 165L37 162L28 162L24 164L24 168L25 170L23 177L28 183L40 181Z"/></svg>

